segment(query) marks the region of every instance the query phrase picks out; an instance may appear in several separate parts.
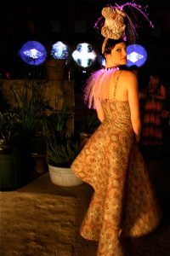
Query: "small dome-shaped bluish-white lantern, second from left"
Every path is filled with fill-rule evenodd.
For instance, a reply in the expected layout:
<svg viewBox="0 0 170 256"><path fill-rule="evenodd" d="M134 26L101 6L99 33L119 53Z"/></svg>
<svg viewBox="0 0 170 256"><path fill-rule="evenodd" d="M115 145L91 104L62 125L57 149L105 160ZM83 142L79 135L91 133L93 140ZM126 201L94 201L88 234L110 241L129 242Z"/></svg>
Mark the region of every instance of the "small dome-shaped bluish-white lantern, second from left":
<svg viewBox="0 0 170 256"><path fill-rule="evenodd" d="M53 44L51 49L51 55L54 57L54 59L67 60L69 57L68 46L60 41L56 44Z"/></svg>

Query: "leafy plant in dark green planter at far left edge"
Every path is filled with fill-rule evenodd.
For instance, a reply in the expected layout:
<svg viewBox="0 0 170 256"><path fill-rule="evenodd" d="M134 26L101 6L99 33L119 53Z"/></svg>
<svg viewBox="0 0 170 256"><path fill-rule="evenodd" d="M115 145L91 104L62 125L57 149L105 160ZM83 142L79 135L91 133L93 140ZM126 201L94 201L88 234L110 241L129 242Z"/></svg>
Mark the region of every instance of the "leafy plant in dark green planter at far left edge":
<svg viewBox="0 0 170 256"><path fill-rule="evenodd" d="M21 157L17 147L18 115L12 110L0 112L0 189L21 185Z"/></svg>

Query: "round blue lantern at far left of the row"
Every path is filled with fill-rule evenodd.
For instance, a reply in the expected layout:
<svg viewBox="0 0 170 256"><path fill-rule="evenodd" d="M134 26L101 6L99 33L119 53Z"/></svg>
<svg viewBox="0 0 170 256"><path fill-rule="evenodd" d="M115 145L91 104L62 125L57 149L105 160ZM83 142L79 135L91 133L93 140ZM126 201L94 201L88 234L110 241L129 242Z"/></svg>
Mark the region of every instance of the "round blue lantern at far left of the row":
<svg viewBox="0 0 170 256"><path fill-rule="evenodd" d="M28 41L20 49L20 57L29 65L40 65L47 57L47 51L42 44L37 41Z"/></svg>

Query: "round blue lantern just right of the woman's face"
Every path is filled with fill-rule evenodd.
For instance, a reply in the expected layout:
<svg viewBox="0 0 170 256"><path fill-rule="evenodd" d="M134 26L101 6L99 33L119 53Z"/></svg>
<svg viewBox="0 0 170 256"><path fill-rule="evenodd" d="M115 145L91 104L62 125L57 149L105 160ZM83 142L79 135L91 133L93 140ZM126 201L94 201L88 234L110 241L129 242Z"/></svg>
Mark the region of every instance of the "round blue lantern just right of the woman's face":
<svg viewBox="0 0 170 256"><path fill-rule="evenodd" d="M144 65L147 59L147 51L142 45L130 44L127 46L127 67Z"/></svg>

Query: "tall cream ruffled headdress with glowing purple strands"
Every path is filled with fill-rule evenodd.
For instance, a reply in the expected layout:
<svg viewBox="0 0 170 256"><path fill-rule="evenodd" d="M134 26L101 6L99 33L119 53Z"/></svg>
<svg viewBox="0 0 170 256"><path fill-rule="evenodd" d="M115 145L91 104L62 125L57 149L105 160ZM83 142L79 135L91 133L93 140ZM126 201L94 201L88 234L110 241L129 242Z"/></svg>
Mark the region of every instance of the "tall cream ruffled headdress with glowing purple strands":
<svg viewBox="0 0 170 256"><path fill-rule="evenodd" d="M127 10L125 11L125 9ZM109 38L116 40L120 38L126 40L126 38L128 38L130 41L135 42L138 35L136 26L139 26L135 11L143 15L144 18L149 21L150 26L153 27L153 24L146 13L146 9L147 6L142 8L141 5L136 3L110 5L102 9L102 16L94 25L96 29L100 29L102 36L105 38L102 45L102 54L105 51L105 45ZM125 24L125 18L127 19L127 25ZM127 34L125 31L127 31Z"/></svg>

